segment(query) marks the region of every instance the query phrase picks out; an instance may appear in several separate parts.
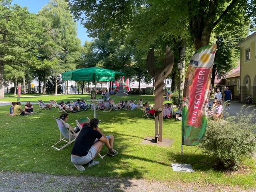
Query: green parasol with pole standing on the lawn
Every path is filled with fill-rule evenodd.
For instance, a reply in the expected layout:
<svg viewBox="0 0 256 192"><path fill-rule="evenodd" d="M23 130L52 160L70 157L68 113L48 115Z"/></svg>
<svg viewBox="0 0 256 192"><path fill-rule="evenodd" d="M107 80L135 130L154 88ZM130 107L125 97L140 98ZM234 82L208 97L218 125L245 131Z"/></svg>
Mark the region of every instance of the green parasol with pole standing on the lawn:
<svg viewBox="0 0 256 192"><path fill-rule="evenodd" d="M76 69L68 72L62 73L62 80L73 80L73 81L92 81L95 84L97 81L114 81L120 76L124 76L126 79L126 74L110 69L90 67ZM94 107L94 118L96 118L96 107Z"/></svg>

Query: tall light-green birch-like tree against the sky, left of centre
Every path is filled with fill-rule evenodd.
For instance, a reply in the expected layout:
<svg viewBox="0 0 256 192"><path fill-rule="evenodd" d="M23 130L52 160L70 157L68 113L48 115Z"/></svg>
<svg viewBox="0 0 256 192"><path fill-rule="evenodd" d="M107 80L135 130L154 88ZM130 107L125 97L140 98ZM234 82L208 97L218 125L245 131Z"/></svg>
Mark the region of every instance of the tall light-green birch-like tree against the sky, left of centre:
<svg viewBox="0 0 256 192"><path fill-rule="evenodd" d="M39 11L38 20L45 31L40 49L42 60L40 68L45 71L43 90L45 93L47 76L52 75L57 80L60 73L76 68L81 47L80 40L76 37L77 25L65 0L50 0ZM57 92L56 84L55 94Z"/></svg>

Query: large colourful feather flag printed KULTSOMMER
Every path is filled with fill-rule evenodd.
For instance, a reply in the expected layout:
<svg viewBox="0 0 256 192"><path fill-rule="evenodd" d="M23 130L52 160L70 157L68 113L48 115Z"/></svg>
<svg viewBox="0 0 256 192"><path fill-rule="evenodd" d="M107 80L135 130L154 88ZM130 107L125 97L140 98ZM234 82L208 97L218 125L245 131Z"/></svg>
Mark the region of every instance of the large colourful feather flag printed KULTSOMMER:
<svg viewBox="0 0 256 192"><path fill-rule="evenodd" d="M217 44L204 46L190 60L182 102L182 145L195 146L204 138L216 48Z"/></svg>

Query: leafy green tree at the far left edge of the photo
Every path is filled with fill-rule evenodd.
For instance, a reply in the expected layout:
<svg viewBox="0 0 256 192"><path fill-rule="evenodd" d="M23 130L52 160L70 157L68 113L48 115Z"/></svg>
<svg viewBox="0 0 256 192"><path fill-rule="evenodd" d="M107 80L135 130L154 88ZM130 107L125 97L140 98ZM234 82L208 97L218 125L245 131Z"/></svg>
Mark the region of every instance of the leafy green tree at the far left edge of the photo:
<svg viewBox="0 0 256 192"><path fill-rule="evenodd" d="M4 98L4 66L18 68L36 56L40 26L35 15L10 0L0 2L0 98Z"/></svg>

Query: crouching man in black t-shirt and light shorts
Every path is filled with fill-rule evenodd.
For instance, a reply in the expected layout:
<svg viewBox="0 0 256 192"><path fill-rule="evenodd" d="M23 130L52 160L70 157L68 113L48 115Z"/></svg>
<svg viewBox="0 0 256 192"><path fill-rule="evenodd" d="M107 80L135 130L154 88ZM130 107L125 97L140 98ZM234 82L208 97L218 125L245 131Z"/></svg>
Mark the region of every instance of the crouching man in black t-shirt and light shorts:
<svg viewBox="0 0 256 192"><path fill-rule="evenodd" d="M84 166L82 165L87 164L88 167L91 167L100 163L99 161L94 161L94 158L100 152L103 143L109 149L108 154L112 156L118 154L118 151L114 150L110 145L109 138L100 132L98 124L98 119L90 120L89 126L82 128L76 138L71 151L71 162L79 171L84 171ZM112 141L114 141L114 137Z"/></svg>

